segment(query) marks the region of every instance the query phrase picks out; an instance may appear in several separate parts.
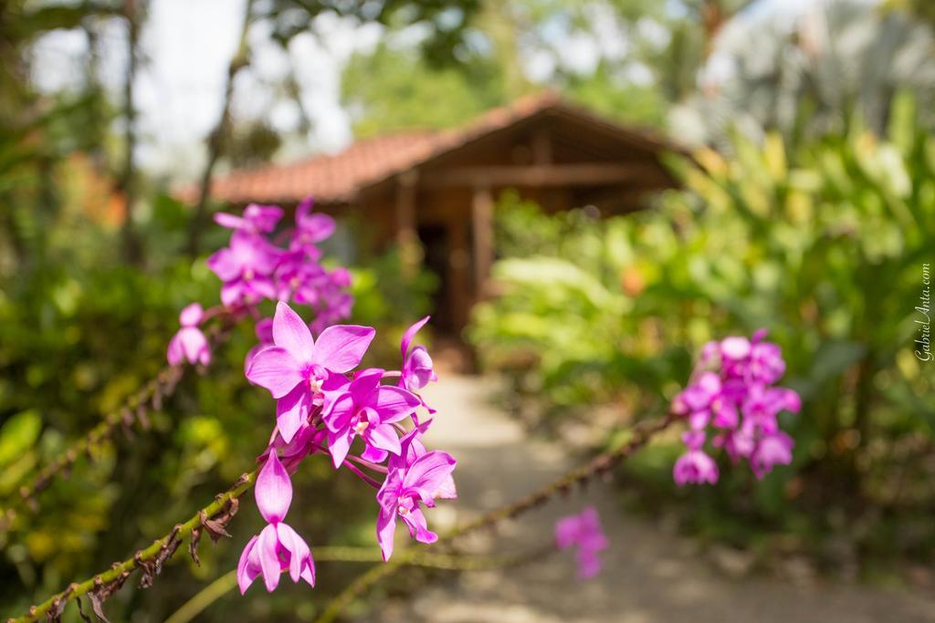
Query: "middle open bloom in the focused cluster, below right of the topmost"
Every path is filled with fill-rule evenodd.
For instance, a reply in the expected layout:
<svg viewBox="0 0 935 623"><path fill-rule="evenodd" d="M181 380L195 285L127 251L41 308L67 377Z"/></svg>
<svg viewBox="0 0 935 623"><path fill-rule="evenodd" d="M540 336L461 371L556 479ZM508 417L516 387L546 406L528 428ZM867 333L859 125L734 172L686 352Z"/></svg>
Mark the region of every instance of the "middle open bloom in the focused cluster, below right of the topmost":
<svg viewBox="0 0 935 623"><path fill-rule="evenodd" d="M322 418L335 467L344 462L358 436L364 440L362 456L366 460L381 462L388 452L399 454L401 446L393 424L408 418L421 403L406 389L381 385L382 376L382 370L358 375L324 408Z"/></svg>

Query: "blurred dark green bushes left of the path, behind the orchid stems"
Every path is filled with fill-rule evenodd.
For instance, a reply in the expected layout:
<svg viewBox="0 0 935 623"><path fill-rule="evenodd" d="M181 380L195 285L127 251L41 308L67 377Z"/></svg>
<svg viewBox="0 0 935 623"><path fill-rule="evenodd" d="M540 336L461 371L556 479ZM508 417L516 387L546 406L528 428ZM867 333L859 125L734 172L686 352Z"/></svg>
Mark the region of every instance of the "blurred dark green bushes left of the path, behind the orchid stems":
<svg viewBox="0 0 935 623"><path fill-rule="evenodd" d="M61 456L165 365L165 348L185 304L218 301L220 283L205 258L180 254L190 225L183 205L154 197L140 223L150 251L145 269L114 262L119 233L79 207L65 201L55 218L36 229L29 262L0 274L3 506L37 469ZM206 247L217 248L229 233L212 228L209 235ZM421 273L401 276L395 253L352 273L360 301L354 321L381 327L381 342L367 362L398 365L399 335L413 318L408 305L427 312L434 282ZM11 531L0 534L4 612L24 611L68 581L126 558L252 469L274 417L268 392L243 376L244 355L255 341L251 323L238 326L214 348L208 370L188 368L175 394L150 412L150 430L134 427L94 444L91 460L79 458L67 479L54 479L37 497L37 514L21 514ZM312 544L369 543L373 507L367 491L349 478L336 478L326 460L308 467L295 487L327 503L294 509L290 521L296 530ZM154 587L132 596L137 603L111 600L108 614L122 620L132 609L164 620L200 588L192 575L207 581L236 566L238 545L260 523L246 503L231 526L232 541L202 545L202 567L180 556L176 564L187 569L166 570ZM345 583L345 572L353 570L336 570L316 594L327 595L330 583ZM240 603L239 615L219 604L209 616L256 619L292 612L295 593L272 600L262 591L256 595ZM305 616L314 612L309 607Z"/></svg>

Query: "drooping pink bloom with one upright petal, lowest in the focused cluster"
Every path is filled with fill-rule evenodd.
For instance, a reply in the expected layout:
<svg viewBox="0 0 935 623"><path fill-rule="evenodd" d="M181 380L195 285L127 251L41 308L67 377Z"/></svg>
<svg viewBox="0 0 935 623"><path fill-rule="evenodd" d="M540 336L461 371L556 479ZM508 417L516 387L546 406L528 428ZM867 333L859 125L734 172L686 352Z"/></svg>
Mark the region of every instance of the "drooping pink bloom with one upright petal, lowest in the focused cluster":
<svg viewBox="0 0 935 623"><path fill-rule="evenodd" d="M315 586L315 561L305 540L282 519L292 503L292 481L275 450L270 450L266 463L256 478L256 506L268 522L240 554L237 563L237 586L243 594L258 575L263 575L266 590L272 592L280 583L280 575L289 570L293 582L303 579Z"/></svg>

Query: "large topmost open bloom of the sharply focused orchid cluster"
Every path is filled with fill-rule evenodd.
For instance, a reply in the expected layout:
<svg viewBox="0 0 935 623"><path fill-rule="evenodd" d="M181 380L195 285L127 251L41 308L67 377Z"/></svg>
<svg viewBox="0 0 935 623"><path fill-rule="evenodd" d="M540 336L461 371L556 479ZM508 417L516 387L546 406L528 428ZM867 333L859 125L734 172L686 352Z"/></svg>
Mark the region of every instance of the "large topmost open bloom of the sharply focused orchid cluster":
<svg viewBox="0 0 935 623"><path fill-rule="evenodd" d="M335 325L318 340L292 308L280 302L273 318L273 343L253 356L247 378L269 389L276 404L276 422L282 438L289 443L307 421L313 404L324 401L329 379L341 377L363 359L376 332L370 327ZM339 463L338 463L339 464Z"/></svg>

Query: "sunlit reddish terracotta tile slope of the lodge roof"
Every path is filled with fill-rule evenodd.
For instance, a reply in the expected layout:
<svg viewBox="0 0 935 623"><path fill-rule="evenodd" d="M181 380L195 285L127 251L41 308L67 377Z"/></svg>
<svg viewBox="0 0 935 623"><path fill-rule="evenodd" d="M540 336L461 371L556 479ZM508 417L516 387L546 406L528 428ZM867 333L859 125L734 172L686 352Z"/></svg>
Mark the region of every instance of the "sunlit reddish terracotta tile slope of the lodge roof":
<svg viewBox="0 0 935 623"><path fill-rule="evenodd" d="M377 136L357 141L335 155L235 170L215 177L211 196L235 204L293 203L309 194L320 203L350 202L362 188L555 106L568 107L553 92L544 92L489 110L460 128ZM193 200L197 188L188 187L178 194L183 200Z"/></svg>

